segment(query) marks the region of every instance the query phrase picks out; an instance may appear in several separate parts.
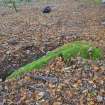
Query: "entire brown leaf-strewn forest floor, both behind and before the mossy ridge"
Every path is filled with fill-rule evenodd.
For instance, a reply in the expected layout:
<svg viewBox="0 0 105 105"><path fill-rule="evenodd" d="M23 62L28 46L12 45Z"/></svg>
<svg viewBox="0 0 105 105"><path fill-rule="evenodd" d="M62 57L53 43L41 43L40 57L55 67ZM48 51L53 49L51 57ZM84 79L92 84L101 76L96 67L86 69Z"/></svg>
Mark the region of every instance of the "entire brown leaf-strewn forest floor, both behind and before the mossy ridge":
<svg viewBox="0 0 105 105"><path fill-rule="evenodd" d="M52 6L49 14L42 13L45 4L20 6L17 13L13 9L0 9L0 78L5 77L7 71L17 69L72 41L86 40L105 52L105 4L94 5L82 0L55 1L48 3ZM50 65L55 65L53 63ZM63 71L57 72L58 60L54 71L53 67L47 66L46 72L31 73L34 75L31 77L37 75L39 80L33 80L27 74L20 80L1 83L0 102L7 105L16 105L17 102L18 105L104 105L105 61L84 63L76 58L70 64L71 68L64 71L70 65L60 61L60 70ZM83 71L82 75L84 68L88 70ZM17 95L17 92L20 94Z"/></svg>

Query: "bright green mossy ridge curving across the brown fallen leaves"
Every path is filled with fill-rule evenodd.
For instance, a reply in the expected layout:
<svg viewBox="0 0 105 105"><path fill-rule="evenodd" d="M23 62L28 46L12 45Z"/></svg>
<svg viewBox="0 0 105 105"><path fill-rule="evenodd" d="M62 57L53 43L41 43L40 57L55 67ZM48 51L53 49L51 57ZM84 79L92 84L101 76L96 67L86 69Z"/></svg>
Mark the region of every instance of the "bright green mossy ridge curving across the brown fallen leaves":
<svg viewBox="0 0 105 105"><path fill-rule="evenodd" d="M90 48L92 49L91 53L89 52ZM50 60L60 55L62 55L65 60L76 56L81 56L85 59L91 58L93 60L98 60L102 58L103 54L100 48L96 48L84 41L68 43L49 52L47 55L41 57L40 59L33 61L32 63L27 64L24 67L21 67L20 69L12 73L7 79L16 79L17 77L20 77L27 72L31 72L34 69L41 69L44 65L48 64Z"/></svg>

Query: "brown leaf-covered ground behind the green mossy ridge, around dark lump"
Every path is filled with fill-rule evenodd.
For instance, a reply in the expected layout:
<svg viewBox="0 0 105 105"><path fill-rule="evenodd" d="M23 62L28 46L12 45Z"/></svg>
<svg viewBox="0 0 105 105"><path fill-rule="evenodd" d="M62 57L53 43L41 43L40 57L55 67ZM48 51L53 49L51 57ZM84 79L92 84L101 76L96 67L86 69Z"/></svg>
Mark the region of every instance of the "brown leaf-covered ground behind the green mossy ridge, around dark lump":
<svg viewBox="0 0 105 105"><path fill-rule="evenodd" d="M52 0L0 9L0 78L47 51L73 40L87 40L105 50L104 4L89 0ZM42 8L51 5L52 12ZM98 43L97 43L98 42Z"/></svg>

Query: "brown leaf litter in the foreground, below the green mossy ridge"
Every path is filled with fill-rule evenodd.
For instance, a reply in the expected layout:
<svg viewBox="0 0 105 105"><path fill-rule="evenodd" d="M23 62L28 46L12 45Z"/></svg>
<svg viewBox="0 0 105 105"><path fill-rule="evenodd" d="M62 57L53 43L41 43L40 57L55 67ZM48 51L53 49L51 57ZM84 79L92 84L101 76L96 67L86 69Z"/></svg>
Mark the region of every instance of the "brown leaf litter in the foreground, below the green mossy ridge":
<svg viewBox="0 0 105 105"><path fill-rule="evenodd" d="M1 105L105 105L105 61L61 57L0 83Z"/></svg>

